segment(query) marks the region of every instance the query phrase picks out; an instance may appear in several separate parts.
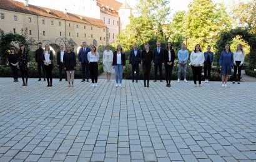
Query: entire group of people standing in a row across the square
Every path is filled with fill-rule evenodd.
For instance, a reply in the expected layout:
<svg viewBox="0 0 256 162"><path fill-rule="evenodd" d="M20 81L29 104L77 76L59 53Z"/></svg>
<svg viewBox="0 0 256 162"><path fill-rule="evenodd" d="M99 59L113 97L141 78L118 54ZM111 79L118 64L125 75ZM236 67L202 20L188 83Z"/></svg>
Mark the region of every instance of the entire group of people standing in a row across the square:
<svg viewBox="0 0 256 162"><path fill-rule="evenodd" d="M138 45L134 44L134 49L130 50L129 64L132 69L132 82L138 82L139 80L139 67L142 64L142 70L144 72L144 87L149 87L150 69L152 62L154 63L154 82L157 79L163 82L162 77L162 65L165 67L165 80L166 87L170 87L172 80L172 71L175 61L175 52L172 49L172 44L167 42L166 49L160 47L160 42L156 43L157 47L153 50L149 49L149 44L144 44L144 50L140 51ZM214 53L210 51L211 47L208 45L207 52L202 52L200 45L195 45L195 49L190 54L190 66L193 72L194 85L197 87L197 80L199 87L202 87L202 69L204 68L205 83L209 83L210 72L214 63ZM189 52L185 49L185 44L182 44L182 49L178 52L179 66L178 66L178 79L180 82L180 74L184 71L184 82L187 81L187 60L189 59ZM82 80L81 82L89 82L89 75L91 75L92 87L97 87L98 76L98 61L99 53L96 46L92 45L91 48L87 47L86 42L82 42L82 47L78 52L78 62L81 64ZM222 87L227 87L227 79L231 75L231 69L234 67L234 82L240 83L241 69L244 63L245 52L242 49L242 45L238 44L234 54L230 51L230 46L225 45L225 50L222 51L219 59L220 74L222 75ZM49 48L49 44L44 46L39 42L38 49L35 55L39 80L41 81L41 69L43 72L44 81L47 79L47 87L52 87L52 69L53 65L53 53ZM103 52L102 62L104 65L104 72L107 74L107 82L111 80L111 74L116 73L116 87L122 87L122 73L126 66L126 54L122 49L122 46L117 45L116 51L112 52L110 46L106 46L106 50ZM17 82L18 73L17 69L21 70L22 86L27 85L28 70L29 70L30 58L24 45L21 45L19 52L16 53L15 49L11 49L9 55L9 65L11 67L14 82ZM66 72L65 79L68 82L68 86L74 86L74 71L76 70L76 54L71 50L71 45L60 46L59 52L57 52L57 66L59 68L59 81L62 81L64 77L62 71ZM157 71L159 70L159 78L157 77ZM237 79L237 70L239 77ZM45 79L46 78L46 79Z"/></svg>

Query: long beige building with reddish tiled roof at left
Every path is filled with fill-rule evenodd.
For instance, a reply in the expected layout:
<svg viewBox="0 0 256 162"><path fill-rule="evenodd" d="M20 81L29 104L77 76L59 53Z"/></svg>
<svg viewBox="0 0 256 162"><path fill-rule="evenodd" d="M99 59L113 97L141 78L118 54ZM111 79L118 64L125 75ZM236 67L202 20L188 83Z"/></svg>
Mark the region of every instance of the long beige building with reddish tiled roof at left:
<svg viewBox="0 0 256 162"><path fill-rule="evenodd" d="M28 1L0 0L0 29L19 33L27 28L28 39L54 44L57 38L74 42L75 51L83 41L106 45L107 26L101 19L29 5ZM59 45L59 44L54 44Z"/></svg>

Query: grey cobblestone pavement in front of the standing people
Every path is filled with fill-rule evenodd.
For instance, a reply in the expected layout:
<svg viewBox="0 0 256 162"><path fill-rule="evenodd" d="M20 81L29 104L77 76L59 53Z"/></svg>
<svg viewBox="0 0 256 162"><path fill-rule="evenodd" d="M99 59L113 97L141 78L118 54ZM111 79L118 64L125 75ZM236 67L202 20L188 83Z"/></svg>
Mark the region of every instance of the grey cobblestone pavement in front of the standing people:
<svg viewBox="0 0 256 162"><path fill-rule="evenodd" d="M0 78L0 161L256 161L256 83Z"/></svg>

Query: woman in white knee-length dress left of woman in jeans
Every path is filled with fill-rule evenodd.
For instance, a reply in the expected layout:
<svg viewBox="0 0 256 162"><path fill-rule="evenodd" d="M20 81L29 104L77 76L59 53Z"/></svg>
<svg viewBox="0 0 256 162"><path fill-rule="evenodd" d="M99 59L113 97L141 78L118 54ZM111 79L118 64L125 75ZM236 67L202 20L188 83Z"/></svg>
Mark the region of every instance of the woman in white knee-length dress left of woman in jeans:
<svg viewBox="0 0 256 162"><path fill-rule="evenodd" d="M110 82L111 80L111 73L114 72L112 68L112 62L113 62L113 52L110 50L110 46L106 46L106 50L103 52L103 70L107 74L107 82Z"/></svg>

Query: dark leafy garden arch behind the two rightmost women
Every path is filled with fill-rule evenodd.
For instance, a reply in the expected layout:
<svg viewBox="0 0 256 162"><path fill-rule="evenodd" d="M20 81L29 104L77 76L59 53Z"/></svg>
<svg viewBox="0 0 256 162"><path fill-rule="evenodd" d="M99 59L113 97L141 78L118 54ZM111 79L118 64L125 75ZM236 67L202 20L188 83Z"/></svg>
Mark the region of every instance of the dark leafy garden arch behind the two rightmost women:
<svg viewBox="0 0 256 162"><path fill-rule="evenodd" d="M250 33L245 29L233 29L231 31L222 32L220 34L220 39L215 44L215 57L219 62L220 54L225 48L225 44L230 44L234 37L240 36L249 46L250 46L250 70L256 68L256 34Z"/></svg>

